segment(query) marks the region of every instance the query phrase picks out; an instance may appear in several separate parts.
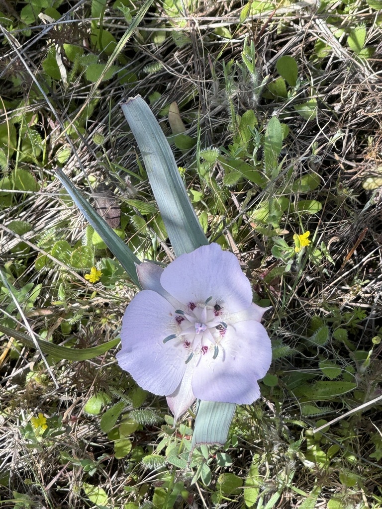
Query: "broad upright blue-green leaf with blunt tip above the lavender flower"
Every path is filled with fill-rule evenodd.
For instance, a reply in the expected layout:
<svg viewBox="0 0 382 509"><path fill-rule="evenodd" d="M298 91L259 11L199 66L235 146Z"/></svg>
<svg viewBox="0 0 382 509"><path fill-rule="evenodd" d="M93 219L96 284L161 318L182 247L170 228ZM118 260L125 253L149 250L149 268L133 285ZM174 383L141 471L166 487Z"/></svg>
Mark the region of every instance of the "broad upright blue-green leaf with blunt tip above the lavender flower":
<svg viewBox="0 0 382 509"><path fill-rule="evenodd" d="M122 103L121 108L142 153L175 255L208 244L166 136L148 104L141 96L136 96Z"/></svg>

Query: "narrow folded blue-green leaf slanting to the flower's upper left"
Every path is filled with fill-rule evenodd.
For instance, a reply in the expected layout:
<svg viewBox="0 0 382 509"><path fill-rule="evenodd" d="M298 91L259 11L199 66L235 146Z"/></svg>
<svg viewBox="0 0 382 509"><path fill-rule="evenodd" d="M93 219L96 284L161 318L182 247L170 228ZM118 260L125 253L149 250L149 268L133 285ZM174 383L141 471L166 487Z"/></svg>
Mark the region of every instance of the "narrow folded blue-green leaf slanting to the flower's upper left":
<svg viewBox="0 0 382 509"><path fill-rule="evenodd" d="M103 217L97 214L90 203L85 200L84 196L76 189L76 187L72 184L72 182L60 168L56 168L56 174L79 210L84 214L94 230L98 233L103 242L112 251L114 256L125 269L131 281L140 287L137 270L135 269L135 264L140 264L140 260L118 237L118 235L107 224Z"/></svg>

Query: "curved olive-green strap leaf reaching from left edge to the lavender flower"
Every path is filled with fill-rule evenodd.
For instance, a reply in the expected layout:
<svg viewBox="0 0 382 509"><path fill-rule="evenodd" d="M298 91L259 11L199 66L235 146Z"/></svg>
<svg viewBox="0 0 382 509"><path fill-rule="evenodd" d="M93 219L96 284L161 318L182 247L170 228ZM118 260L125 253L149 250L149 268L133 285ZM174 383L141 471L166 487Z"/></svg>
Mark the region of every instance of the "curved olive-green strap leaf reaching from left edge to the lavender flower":
<svg viewBox="0 0 382 509"><path fill-rule="evenodd" d="M30 348L36 348L36 345L31 340L29 336L23 334L22 332L14 329L10 329L9 327L5 327L4 325L0 325L0 331L4 332L10 337L15 337L16 340L21 341L24 345ZM94 357L98 357L103 353L107 352L111 348L114 348L120 342L120 338L116 337L115 340L108 341L107 343L102 343L102 345L98 345L92 348L70 348L70 347L62 347L60 345L54 345L49 341L45 340L37 340L39 347L41 350L47 354L55 357L57 359L67 359L67 360L88 360L93 359Z"/></svg>

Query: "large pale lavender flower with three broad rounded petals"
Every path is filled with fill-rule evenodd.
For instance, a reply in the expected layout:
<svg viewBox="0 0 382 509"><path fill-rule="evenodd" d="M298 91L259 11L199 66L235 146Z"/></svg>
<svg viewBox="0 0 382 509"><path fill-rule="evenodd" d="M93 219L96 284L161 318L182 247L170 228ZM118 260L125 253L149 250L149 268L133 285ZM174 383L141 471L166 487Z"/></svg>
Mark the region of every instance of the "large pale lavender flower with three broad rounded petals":
<svg viewBox="0 0 382 509"><path fill-rule="evenodd" d="M182 254L168 267L137 267L143 291L122 322L122 369L165 395L178 418L196 398L250 404L269 369L262 308L234 254L218 244Z"/></svg>

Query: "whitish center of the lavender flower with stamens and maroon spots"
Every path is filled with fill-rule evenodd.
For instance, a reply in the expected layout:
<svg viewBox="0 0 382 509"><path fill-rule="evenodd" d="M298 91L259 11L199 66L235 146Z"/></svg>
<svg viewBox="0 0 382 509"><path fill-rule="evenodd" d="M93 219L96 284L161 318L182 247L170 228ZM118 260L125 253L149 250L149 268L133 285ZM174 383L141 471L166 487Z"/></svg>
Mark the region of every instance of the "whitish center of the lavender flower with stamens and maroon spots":
<svg viewBox="0 0 382 509"><path fill-rule="evenodd" d="M189 302L184 309L176 309L170 328L173 334L167 336L163 343L176 340L179 348L185 348L189 355L186 363L194 355L211 354L216 359L219 354L219 344L227 330L227 324L222 321L223 309L212 297L205 302Z"/></svg>

